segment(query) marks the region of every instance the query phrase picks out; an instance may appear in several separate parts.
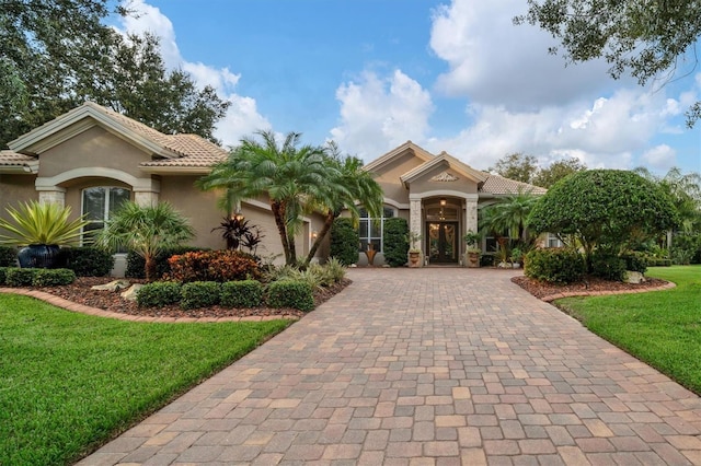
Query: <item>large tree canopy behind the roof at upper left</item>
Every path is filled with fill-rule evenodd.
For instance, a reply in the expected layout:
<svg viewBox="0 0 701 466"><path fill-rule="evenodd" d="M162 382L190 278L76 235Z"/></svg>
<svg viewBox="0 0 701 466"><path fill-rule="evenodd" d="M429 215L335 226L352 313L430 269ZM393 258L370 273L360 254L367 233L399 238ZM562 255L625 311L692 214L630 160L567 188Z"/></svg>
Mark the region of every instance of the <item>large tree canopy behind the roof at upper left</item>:
<svg viewBox="0 0 701 466"><path fill-rule="evenodd" d="M0 147L79 106L105 105L166 133L214 140L228 102L168 71L158 39L103 21L110 0L4 0L0 11Z"/></svg>

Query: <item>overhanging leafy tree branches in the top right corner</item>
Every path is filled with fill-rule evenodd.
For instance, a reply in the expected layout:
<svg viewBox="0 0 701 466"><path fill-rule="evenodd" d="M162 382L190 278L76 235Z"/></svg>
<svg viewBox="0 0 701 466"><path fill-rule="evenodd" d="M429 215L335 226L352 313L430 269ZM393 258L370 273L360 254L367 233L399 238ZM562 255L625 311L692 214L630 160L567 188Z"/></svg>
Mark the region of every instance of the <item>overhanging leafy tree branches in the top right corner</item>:
<svg viewBox="0 0 701 466"><path fill-rule="evenodd" d="M679 60L693 51L701 35L701 2L528 0L528 13L515 22L552 34L570 62L604 58L612 78L630 72L645 84L660 75L671 80ZM687 125L692 127L699 117L701 102L687 113Z"/></svg>

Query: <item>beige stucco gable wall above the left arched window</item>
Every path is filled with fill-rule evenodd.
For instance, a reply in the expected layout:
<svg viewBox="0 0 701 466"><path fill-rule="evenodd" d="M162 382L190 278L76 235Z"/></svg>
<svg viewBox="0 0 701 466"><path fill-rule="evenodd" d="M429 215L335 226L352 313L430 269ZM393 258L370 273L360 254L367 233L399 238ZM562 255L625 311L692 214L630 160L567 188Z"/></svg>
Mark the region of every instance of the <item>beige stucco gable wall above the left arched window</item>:
<svg viewBox="0 0 701 466"><path fill-rule="evenodd" d="M148 154L100 127L93 127L39 155L39 176L56 176L72 168L114 168L136 177L145 176L139 163Z"/></svg>

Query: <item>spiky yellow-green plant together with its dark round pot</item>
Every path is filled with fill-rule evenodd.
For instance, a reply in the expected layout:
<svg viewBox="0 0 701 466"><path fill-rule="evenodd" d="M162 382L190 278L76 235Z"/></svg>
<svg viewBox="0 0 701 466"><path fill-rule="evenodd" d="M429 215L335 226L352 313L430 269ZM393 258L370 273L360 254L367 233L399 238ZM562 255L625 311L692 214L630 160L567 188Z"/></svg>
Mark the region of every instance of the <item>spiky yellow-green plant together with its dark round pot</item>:
<svg viewBox="0 0 701 466"><path fill-rule="evenodd" d="M10 219L0 219L0 242L24 246L18 254L20 267L50 268L56 263L60 246L72 245L88 224L84 215L70 218L70 207L31 200L16 209L8 207Z"/></svg>

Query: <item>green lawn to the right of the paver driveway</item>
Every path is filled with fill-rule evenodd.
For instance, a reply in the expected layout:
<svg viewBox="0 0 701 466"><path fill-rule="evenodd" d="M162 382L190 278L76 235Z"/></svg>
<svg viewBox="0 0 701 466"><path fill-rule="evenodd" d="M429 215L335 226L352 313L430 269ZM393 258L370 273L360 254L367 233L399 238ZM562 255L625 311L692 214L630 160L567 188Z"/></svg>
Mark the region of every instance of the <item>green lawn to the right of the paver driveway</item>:
<svg viewBox="0 0 701 466"><path fill-rule="evenodd" d="M676 288L555 304L598 336L701 395L701 266L654 267Z"/></svg>

